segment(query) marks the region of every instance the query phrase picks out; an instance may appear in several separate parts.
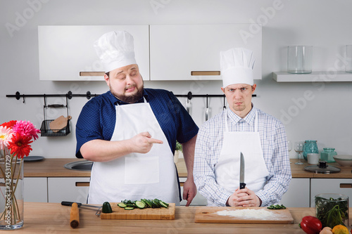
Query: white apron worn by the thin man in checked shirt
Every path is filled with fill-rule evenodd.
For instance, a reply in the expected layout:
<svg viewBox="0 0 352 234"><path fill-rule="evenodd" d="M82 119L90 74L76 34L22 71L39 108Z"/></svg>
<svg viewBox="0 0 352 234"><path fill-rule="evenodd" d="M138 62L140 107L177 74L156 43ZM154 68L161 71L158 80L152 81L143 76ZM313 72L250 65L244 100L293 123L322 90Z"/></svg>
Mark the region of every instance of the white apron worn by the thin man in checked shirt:
<svg viewBox="0 0 352 234"><path fill-rule="evenodd" d="M230 110L227 110L230 111ZM230 193L239 188L239 160L244 155L244 183L254 192L263 189L265 176L269 175L258 132L258 113L254 120L254 131L229 131L227 113L225 131L218 163L215 165L215 179L218 185ZM208 206L217 206L208 200Z"/></svg>

